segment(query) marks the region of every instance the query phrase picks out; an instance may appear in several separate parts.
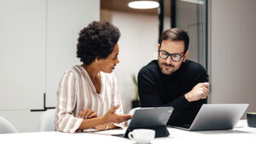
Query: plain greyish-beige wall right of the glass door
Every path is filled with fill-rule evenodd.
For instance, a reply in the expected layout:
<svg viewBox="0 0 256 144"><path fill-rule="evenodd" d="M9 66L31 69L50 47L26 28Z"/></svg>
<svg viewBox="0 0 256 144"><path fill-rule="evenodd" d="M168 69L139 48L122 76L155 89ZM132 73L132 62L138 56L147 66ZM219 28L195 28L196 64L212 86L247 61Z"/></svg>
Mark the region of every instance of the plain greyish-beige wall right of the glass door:
<svg viewBox="0 0 256 144"><path fill-rule="evenodd" d="M256 1L210 1L211 101L256 112Z"/></svg>

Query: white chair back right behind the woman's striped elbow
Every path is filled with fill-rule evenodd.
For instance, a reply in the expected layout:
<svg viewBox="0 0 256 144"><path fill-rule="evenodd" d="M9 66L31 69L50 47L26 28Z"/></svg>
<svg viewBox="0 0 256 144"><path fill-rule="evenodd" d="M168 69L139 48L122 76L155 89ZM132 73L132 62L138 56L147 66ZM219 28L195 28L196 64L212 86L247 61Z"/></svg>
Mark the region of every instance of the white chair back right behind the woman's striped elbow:
<svg viewBox="0 0 256 144"><path fill-rule="evenodd" d="M55 109L50 109L42 113L38 131L55 131Z"/></svg>

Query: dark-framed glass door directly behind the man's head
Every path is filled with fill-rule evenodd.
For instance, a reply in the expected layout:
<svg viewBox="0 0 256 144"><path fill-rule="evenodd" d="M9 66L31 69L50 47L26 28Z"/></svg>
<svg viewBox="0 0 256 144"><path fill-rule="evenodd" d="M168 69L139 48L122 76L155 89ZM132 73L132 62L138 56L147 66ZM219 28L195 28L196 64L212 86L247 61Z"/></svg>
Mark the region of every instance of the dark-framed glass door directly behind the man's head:
<svg viewBox="0 0 256 144"><path fill-rule="evenodd" d="M172 27L188 32L188 59L208 69L207 0L160 0L159 15L162 17L160 33Z"/></svg>

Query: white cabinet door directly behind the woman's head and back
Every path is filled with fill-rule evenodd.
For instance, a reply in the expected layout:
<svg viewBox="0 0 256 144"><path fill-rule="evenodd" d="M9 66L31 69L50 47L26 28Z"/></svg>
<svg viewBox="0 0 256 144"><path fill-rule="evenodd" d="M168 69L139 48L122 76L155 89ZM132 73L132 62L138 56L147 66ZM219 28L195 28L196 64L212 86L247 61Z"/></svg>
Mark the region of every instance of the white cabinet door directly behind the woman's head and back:
<svg viewBox="0 0 256 144"><path fill-rule="evenodd" d="M79 31L100 20L99 0L47 2L46 107L55 107L56 91L65 70L81 62L76 58Z"/></svg>

